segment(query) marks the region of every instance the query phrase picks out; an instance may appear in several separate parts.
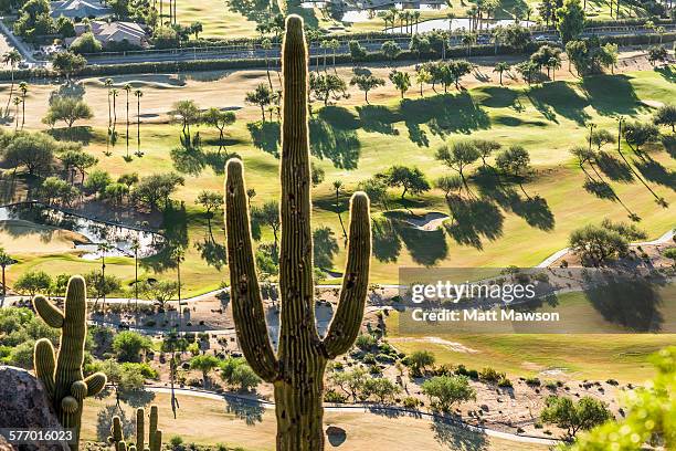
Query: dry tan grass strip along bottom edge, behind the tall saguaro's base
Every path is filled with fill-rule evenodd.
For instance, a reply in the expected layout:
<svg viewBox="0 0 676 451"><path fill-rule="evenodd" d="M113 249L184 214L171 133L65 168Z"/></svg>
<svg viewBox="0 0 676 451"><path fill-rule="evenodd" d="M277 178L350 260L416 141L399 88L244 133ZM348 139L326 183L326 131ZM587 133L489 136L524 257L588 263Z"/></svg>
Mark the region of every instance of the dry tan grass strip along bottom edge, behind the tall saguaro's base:
<svg viewBox="0 0 676 451"><path fill-rule="evenodd" d="M272 451L275 441L274 410L247 407L224 400L204 399L178 395L180 409L175 420L171 415L170 397L157 394L151 403L159 407L159 428L162 439L168 443L171 437L180 436L186 444L215 444L242 447L245 451ZM106 407L108 406L108 407ZM135 409L123 405L126 418L135 418ZM115 411L115 413L113 413ZM83 415L83 440L109 434L109 418L118 413L115 400L88 398ZM105 420L97 421L98 415ZM199 427L196 428L196 419ZM328 410L324 423L345 429L346 439L339 444L340 450L357 451L368 447L373 451L425 450L425 451L464 451L464 450L546 450L547 447L494 439L460 428L435 423L430 420L412 417L376 415L365 411ZM133 427L129 433L133 433ZM127 436L129 436L127 433ZM327 440L327 448L334 448Z"/></svg>

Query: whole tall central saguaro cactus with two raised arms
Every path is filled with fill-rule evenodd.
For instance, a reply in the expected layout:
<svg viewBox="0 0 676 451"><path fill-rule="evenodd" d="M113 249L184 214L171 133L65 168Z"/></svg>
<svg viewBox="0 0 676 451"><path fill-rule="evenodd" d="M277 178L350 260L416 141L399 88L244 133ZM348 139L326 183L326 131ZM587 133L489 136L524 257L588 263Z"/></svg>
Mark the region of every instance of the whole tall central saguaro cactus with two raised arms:
<svg viewBox="0 0 676 451"><path fill-rule="evenodd" d="M274 385L278 451L324 450L324 371L327 361L346 353L359 333L371 256L369 199L356 192L350 201L349 249L340 303L321 339L315 324L313 283L307 59L303 19L289 15L283 48L282 324L276 354L267 335L256 280L242 161L228 162L225 181L233 316L251 367Z"/></svg>

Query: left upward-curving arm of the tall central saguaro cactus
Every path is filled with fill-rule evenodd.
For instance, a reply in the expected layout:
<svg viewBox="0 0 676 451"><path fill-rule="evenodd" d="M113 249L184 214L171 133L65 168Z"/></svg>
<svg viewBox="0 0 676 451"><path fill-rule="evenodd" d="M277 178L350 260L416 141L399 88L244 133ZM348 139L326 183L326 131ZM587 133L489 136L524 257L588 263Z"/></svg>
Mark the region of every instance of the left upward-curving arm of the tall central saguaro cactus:
<svg viewBox="0 0 676 451"><path fill-rule="evenodd" d="M232 314L237 339L252 369L264 380L278 377L278 363L267 335L263 300L256 277L246 188L242 161L228 161L225 180L225 226L230 265Z"/></svg>

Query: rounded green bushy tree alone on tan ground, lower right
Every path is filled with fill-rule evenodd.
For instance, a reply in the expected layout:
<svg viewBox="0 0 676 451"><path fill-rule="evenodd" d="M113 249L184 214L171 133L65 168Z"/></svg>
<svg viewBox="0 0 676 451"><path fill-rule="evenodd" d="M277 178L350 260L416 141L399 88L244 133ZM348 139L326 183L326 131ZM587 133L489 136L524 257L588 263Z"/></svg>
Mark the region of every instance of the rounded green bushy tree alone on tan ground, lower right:
<svg viewBox="0 0 676 451"><path fill-rule="evenodd" d="M540 412L542 422L566 429L568 437L573 438L583 430L590 430L613 418L608 407L596 398L584 396L579 401L568 397L550 396Z"/></svg>

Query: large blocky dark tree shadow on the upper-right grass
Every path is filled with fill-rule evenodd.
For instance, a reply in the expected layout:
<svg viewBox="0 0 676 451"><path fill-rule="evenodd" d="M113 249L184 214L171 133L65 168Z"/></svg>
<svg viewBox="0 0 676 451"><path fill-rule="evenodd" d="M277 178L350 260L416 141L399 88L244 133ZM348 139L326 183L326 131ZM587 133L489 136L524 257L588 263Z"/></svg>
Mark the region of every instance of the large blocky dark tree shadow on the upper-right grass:
<svg viewBox="0 0 676 451"><path fill-rule="evenodd" d="M602 116L635 115L641 107L626 75L591 75L582 78L590 105Z"/></svg>

